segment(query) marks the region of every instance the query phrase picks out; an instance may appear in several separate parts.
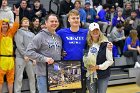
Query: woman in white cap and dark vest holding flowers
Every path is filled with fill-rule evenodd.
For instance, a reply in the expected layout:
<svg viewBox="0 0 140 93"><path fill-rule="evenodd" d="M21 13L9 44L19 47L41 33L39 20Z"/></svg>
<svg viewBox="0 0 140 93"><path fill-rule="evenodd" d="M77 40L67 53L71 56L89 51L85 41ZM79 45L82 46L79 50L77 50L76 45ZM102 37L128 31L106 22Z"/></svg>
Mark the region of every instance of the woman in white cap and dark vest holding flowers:
<svg viewBox="0 0 140 93"><path fill-rule="evenodd" d="M110 68L113 64L112 51L107 48L108 40L101 33L97 23L89 25L87 36L89 46L84 65L87 68L87 88L89 93L106 93L110 77Z"/></svg>

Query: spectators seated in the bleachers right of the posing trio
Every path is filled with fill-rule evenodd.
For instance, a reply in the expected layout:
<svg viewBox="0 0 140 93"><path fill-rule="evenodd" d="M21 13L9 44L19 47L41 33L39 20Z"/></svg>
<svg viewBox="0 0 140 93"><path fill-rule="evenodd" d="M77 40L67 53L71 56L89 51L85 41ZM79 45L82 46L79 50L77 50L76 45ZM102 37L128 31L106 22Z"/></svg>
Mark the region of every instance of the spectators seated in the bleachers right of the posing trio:
<svg viewBox="0 0 140 93"><path fill-rule="evenodd" d="M137 58L131 53L136 50L136 55L139 53L139 44L136 41L140 39L140 4L136 9L132 9L131 2L125 2L124 7L122 3L117 3L115 0L108 0L108 4L101 5L101 2L92 2L93 0L85 0L82 3L80 0L76 0L74 3L70 0L63 0L60 3L59 16L63 23L62 27L69 27L67 22L67 14L71 9L76 9L80 13L80 21L82 28L88 28L92 22L97 22L100 25L101 31L108 37L114 45L114 57L118 55L133 57L134 62L137 62ZM92 6L93 5L93 6ZM134 34L133 31L136 30ZM130 40L128 38L131 37ZM130 44L129 48L126 48ZM137 47L138 46L138 47ZM119 50L119 53L116 54ZM134 48L134 49L133 49ZM130 50L130 53L126 53Z"/></svg>

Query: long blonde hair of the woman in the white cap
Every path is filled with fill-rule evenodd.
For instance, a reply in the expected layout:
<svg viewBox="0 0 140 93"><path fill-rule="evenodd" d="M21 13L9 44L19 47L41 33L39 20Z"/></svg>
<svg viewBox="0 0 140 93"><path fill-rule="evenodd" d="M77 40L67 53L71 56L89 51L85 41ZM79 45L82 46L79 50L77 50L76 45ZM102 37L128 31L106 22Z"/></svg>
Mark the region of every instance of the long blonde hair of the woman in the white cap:
<svg viewBox="0 0 140 93"><path fill-rule="evenodd" d="M87 43L88 43L89 47L91 47L93 44L93 39L91 37L91 33L92 33L92 31L88 31L88 35L87 35ZM102 42L108 42L108 39L100 31L100 35L99 35L99 39L98 39L97 43L100 45Z"/></svg>

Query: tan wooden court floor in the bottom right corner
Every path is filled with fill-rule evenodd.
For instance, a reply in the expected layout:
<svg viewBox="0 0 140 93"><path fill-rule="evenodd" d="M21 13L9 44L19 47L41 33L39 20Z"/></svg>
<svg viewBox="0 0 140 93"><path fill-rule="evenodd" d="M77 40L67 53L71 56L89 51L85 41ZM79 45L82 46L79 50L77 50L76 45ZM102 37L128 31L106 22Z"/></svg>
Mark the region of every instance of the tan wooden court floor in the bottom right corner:
<svg viewBox="0 0 140 93"><path fill-rule="evenodd" d="M136 84L108 86L107 93L140 93L140 87Z"/></svg>

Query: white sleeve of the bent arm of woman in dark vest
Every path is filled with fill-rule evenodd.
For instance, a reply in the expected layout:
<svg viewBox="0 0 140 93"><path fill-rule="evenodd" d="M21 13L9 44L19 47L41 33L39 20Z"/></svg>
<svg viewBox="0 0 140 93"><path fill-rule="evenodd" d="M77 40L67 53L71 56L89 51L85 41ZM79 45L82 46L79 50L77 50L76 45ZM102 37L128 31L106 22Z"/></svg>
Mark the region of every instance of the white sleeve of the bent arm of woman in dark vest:
<svg viewBox="0 0 140 93"><path fill-rule="evenodd" d="M99 65L100 70L106 70L109 66L111 66L113 61L112 51L110 51L108 48L106 48L106 61L103 64Z"/></svg>

